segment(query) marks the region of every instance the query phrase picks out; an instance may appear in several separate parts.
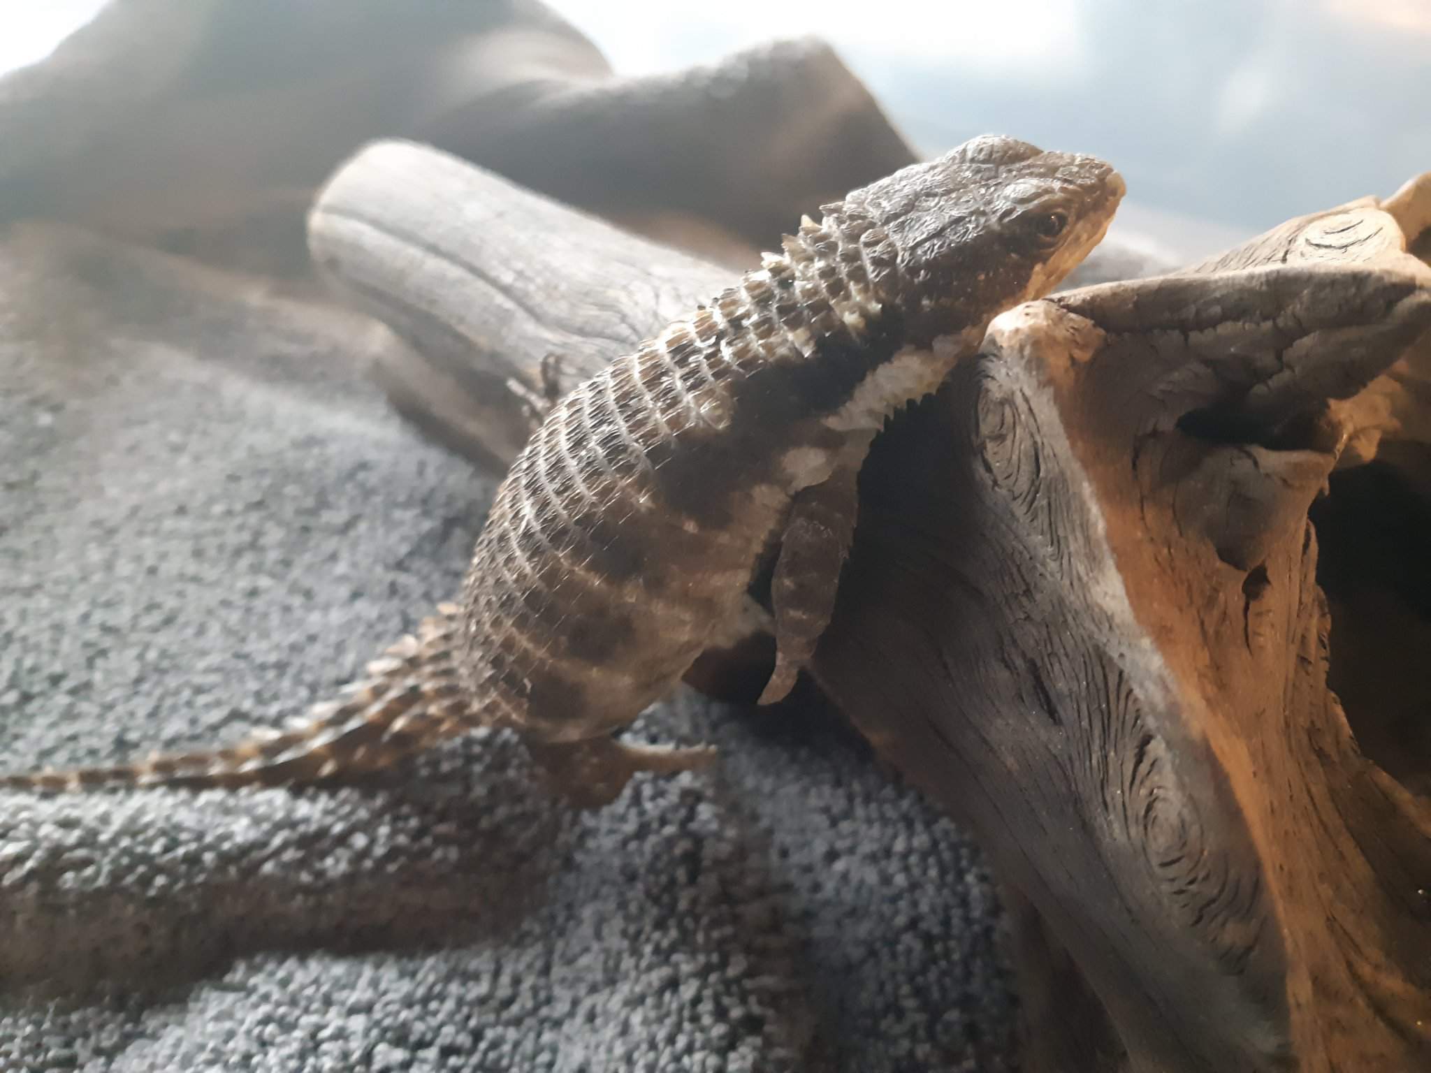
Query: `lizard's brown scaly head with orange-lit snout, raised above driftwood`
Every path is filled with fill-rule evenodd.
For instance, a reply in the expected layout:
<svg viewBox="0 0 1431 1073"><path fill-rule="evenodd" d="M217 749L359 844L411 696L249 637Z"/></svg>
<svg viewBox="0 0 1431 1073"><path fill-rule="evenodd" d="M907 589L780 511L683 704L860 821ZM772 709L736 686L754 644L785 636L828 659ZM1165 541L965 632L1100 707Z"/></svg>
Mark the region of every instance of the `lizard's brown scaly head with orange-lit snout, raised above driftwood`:
<svg viewBox="0 0 1431 1073"><path fill-rule="evenodd" d="M1125 189L1096 157L983 136L831 209L860 220L876 293L927 345L982 336L997 313L1058 286L1102 240Z"/></svg>

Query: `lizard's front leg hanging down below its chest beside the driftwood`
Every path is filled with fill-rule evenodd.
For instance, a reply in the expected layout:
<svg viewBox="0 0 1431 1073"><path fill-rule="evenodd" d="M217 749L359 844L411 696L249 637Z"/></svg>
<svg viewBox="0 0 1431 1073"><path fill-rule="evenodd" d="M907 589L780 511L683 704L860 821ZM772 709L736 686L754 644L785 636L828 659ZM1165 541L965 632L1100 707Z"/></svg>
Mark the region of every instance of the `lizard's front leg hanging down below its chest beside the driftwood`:
<svg viewBox="0 0 1431 1073"><path fill-rule="evenodd" d="M760 704L774 704L790 692L830 624L840 572L854 539L863 455L860 451L856 458L851 452L829 478L803 488L791 501L770 582L776 670L760 694Z"/></svg>

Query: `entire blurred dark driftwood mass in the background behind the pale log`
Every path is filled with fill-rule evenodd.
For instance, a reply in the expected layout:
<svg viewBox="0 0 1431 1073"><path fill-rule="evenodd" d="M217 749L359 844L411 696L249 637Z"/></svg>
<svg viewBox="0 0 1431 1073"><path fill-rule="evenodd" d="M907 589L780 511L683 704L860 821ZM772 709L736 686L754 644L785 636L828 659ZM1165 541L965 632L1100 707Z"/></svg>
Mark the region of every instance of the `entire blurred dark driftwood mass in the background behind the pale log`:
<svg viewBox="0 0 1431 1073"><path fill-rule="evenodd" d="M537 0L113 0L0 77L0 220L280 276L306 272L319 183L375 137L741 262L804 206L913 160L821 41L620 77Z"/></svg>

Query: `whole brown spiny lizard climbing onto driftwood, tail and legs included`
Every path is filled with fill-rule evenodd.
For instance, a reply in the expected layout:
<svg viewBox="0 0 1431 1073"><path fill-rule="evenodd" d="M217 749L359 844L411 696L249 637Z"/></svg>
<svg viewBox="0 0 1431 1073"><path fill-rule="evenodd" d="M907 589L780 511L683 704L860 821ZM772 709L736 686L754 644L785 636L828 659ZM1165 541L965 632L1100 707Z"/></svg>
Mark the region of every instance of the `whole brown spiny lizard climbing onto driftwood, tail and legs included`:
<svg viewBox="0 0 1431 1073"><path fill-rule="evenodd" d="M771 582L781 697L834 605L873 435L1050 290L1123 195L1106 163L979 137L804 219L760 269L552 406L497 492L461 604L442 605L298 730L4 788L321 781L477 725L509 727L577 801L704 748L612 734L750 628Z"/></svg>

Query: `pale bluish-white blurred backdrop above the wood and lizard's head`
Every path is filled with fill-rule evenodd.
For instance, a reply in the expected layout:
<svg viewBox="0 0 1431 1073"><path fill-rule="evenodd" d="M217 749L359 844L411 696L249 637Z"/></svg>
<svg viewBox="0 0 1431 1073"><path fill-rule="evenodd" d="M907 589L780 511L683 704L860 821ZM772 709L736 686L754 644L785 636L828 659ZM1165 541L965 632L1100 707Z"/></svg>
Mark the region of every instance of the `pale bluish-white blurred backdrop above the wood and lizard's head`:
<svg viewBox="0 0 1431 1073"><path fill-rule="evenodd" d="M0 72L103 0L0 0ZM819 34L920 153L985 130L1103 156L1192 252L1390 193L1431 157L1431 0L552 0L621 74Z"/></svg>

